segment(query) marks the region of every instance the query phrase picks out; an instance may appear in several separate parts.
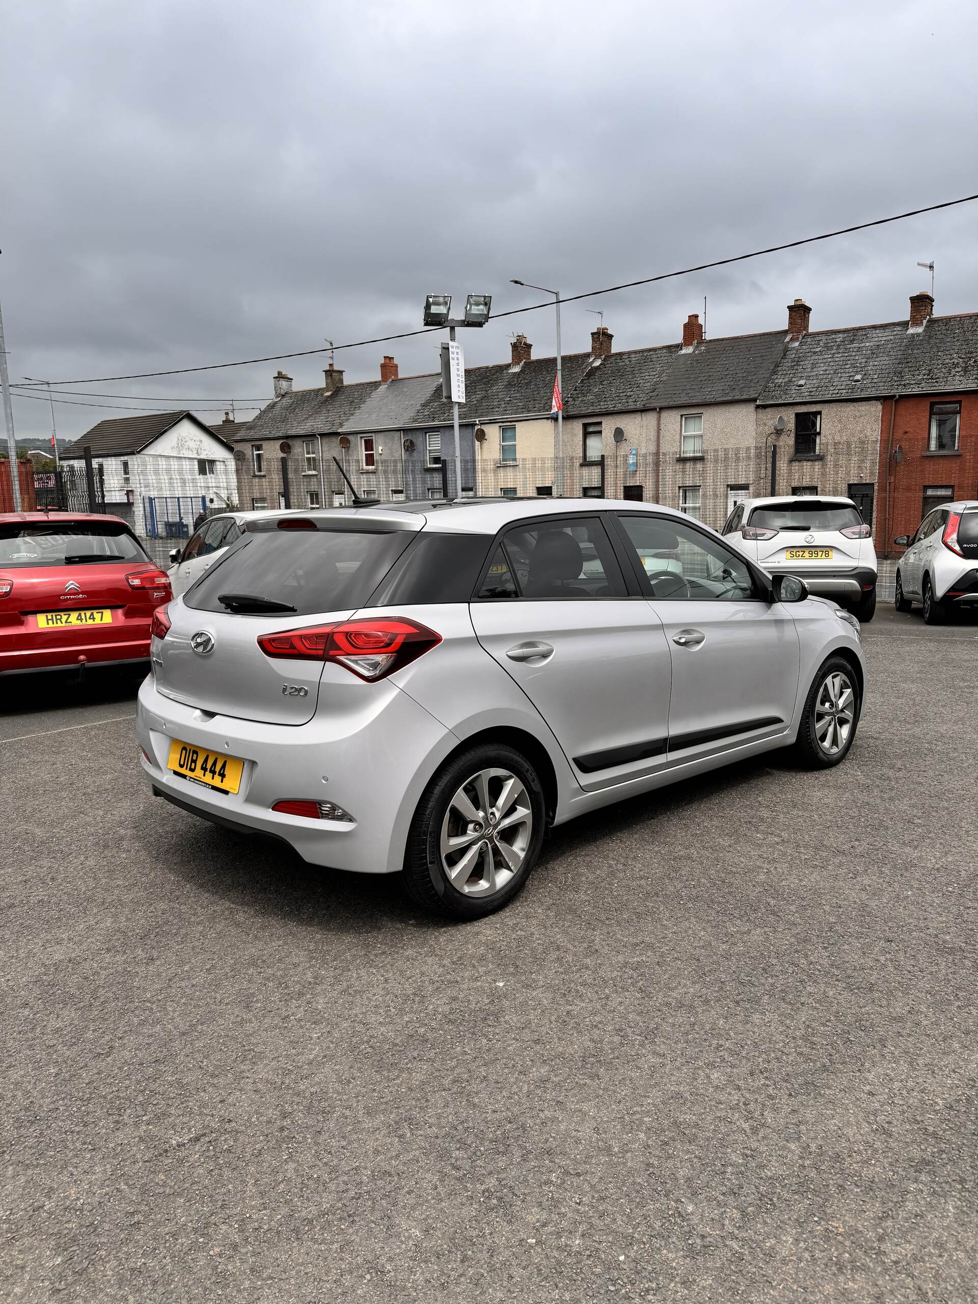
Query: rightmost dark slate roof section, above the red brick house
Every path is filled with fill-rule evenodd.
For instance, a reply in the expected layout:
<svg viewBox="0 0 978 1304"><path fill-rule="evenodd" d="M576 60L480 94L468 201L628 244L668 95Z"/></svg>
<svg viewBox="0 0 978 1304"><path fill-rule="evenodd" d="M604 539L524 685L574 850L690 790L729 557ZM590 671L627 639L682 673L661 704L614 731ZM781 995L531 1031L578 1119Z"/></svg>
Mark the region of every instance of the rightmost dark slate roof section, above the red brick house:
<svg viewBox="0 0 978 1304"><path fill-rule="evenodd" d="M910 334L902 321L803 335L797 347L785 349L758 402L769 406L974 389L978 313L962 313L931 317L919 334Z"/></svg>

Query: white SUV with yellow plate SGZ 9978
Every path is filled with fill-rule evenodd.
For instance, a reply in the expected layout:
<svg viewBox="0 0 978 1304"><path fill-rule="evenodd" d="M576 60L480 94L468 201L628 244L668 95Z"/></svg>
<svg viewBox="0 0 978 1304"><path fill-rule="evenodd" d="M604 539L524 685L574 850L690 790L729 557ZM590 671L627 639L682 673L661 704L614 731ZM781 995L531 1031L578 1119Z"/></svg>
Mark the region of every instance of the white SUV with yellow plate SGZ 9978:
<svg viewBox="0 0 978 1304"><path fill-rule="evenodd" d="M852 498L832 494L746 498L721 533L772 575L790 574L810 592L831 597L859 621L876 610L876 550Z"/></svg>

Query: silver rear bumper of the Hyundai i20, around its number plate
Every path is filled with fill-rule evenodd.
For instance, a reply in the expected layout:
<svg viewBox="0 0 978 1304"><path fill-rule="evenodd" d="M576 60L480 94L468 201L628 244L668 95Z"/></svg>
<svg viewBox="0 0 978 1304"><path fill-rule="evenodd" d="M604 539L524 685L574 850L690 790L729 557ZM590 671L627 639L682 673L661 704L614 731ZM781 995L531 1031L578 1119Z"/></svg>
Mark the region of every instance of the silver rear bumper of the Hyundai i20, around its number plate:
<svg viewBox="0 0 978 1304"><path fill-rule="evenodd" d="M365 707L369 689L365 687ZM374 702L377 699L374 698ZM211 716L140 689L136 735L154 792L201 819L288 842L310 865L359 874L402 868L407 832L432 773L458 738L387 681L378 711L304 725ZM173 739L245 762L237 793L220 793L167 768ZM353 823L304 819L271 807L282 799L330 801Z"/></svg>

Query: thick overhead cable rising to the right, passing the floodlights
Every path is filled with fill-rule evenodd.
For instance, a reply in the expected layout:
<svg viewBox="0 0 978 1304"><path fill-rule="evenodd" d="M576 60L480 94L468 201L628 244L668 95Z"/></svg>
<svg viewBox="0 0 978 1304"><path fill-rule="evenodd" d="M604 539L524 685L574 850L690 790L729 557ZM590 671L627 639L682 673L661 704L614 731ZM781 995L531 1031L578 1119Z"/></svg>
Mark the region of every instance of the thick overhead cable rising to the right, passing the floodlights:
<svg viewBox="0 0 978 1304"><path fill-rule="evenodd" d="M562 304L572 304L580 299L593 299L597 295L613 295L619 289L634 289L636 286L651 286L659 280L670 280L674 276L689 276L694 271L708 271L711 267L726 267L733 262L746 262L748 258L760 258L768 253L780 253L784 249L798 249L806 244L816 244L820 240L835 240L837 236L852 235L854 231L867 231L870 227L883 227L891 222L904 222L906 218L917 218L923 213L936 213L939 209L953 209L960 203L971 203L978 200L978 194L965 194L960 200L945 200L943 203L928 203L923 209L909 209L906 213L895 213L889 218L875 218L872 222L857 222L850 227L838 227L836 231L824 231L819 236L805 236L801 240L786 240L784 244L768 245L765 249L754 249L751 253L738 253L729 258L715 258L712 262L699 262L692 267L682 267L678 271L664 271L657 276L642 276L638 280L623 280L618 286L605 286L602 289L587 289L580 295L569 295L562 299ZM501 317L515 317L518 313L533 313L541 308L553 308L553 300L548 299L542 304L528 304L526 308L510 308L505 313L493 313L490 321ZM51 381L52 385L102 385L107 381L142 381L155 376L188 376L192 372L218 372L228 366L250 366L254 363L283 363L291 357L312 357L316 353L339 352L344 348L363 348L365 344L387 344L395 339L411 339L415 335L432 335L441 331L441 326L422 326L419 330L403 330L395 335L374 335L370 339L353 340L349 344L333 344L326 348L301 348L292 353L267 353L263 357L245 357L237 363L207 363L202 366L173 366L160 372L129 372L125 376L89 376L76 381Z"/></svg>

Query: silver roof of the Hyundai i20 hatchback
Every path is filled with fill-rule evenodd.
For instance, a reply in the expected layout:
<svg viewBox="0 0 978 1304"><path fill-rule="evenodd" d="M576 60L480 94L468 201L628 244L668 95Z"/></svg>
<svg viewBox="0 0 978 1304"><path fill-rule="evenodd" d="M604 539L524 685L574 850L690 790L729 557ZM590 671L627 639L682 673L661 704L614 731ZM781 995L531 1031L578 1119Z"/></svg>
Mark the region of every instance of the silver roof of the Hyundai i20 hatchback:
<svg viewBox="0 0 978 1304"><path fill-rule="evenodd" d="M301 512L309 520L378 520L402 529L429 529L452 535L494 535L511 522L539 516L571 516L595 511L657 512L689 520L689 515L655 502L626 498L458 498L420 499L400 503L361 503L355 507L313 509ZM287 512L262 512L276 516ZM702 524L702 522L699 522Z"/></svg>

